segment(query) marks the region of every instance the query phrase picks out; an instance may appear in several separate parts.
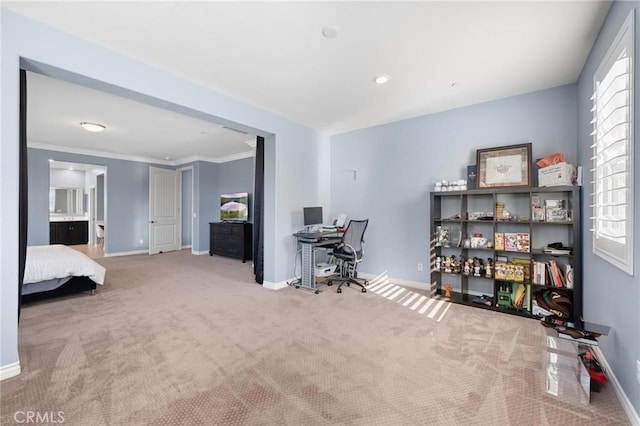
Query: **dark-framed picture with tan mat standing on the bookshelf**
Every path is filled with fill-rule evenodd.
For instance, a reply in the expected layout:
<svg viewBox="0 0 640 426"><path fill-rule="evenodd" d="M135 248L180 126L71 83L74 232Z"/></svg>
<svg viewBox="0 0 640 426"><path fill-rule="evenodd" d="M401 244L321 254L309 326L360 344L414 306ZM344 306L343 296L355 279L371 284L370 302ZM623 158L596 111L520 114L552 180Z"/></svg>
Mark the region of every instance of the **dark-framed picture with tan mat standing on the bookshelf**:
<svg viewBox="0 0 640 426"><path fill-rule="evenodd" d="M477 187L525 188L531 186L531 143L476 151Z"/></svg>

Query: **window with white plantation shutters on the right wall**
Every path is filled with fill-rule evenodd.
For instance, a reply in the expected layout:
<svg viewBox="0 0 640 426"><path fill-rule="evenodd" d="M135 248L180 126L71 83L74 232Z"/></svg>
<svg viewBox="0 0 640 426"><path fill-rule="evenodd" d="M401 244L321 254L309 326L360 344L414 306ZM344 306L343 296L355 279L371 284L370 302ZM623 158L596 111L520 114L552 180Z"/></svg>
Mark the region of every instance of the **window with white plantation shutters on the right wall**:
<svg viewBox="0 0 640 426"><path fill-rule="evenodd" d="M593 253L633 275L633 12L594 75Z"/></svg>

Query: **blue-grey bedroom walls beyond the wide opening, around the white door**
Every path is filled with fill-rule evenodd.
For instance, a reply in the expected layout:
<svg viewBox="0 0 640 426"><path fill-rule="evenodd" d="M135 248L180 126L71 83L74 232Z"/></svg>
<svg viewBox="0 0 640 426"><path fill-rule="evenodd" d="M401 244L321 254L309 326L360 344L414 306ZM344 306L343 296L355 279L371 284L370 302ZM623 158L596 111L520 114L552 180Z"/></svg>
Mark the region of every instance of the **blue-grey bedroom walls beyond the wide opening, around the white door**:
<svg viewBox="0 0 640 426"><path fill-rule="evenodd" d="M94 157L59 151L30 148L29 161L29 229L28 244L49 244L49 159L68 161L73 163L95 164L107 167L105 174L105 221L107 235L105 238L105 253L107 255L146 251L149 248L149 166L163 168L179 168L185 165L170 167L166 165L141 163L113 158ZM231 191L253 190L253 158L216 164L204 161L189 163L194 167L194 191L197 208L196 219L206 226L201 226L194 233L195 241L191 244L196 252L209 250L208 222L219 219L220 193ZM188 166L187 165L187 166ZM197 182L196 182L197 181ZM98 179L98 182L100 180ZM197 183L197 185L196 185ZM184 182L183 182L184 185ZM189 195L191 193L189 183ZM191 198L188 200L191 205ZM189 220L191 226L191 211L189 218L183 215L184 222ZM189 236L191 230L189 230ZM143 243L140 244L140 240Z"/></svg>

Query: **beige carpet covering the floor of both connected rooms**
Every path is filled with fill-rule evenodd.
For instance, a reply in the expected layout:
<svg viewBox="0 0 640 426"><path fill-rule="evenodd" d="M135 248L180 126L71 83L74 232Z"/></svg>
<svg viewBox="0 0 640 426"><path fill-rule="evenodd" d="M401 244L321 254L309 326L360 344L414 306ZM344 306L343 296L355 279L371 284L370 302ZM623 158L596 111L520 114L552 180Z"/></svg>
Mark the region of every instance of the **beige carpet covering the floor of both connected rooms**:
<svg viewBox="0 0 640 426"><path fill-rule="evenodd" d="M270 291L249 263L184 251L99 262L95 296L23 309L3 425L25 411L68 425L628 424L611 385L589 406L545 394L534 320Z"/></svg>

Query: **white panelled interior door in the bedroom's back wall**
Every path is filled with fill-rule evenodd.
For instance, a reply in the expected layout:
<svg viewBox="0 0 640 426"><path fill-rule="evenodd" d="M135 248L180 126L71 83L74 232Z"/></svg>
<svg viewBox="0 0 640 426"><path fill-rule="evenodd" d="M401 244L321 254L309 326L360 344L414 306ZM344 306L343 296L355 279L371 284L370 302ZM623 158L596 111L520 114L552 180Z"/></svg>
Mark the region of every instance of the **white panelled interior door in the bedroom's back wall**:
<svg viewBox="0 0 640 426"><path fill-rule="evenodd" d="M181 173L149 167L149 254L180 250Z"/></svg>

